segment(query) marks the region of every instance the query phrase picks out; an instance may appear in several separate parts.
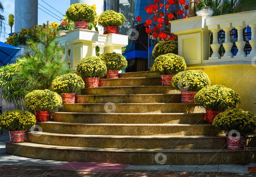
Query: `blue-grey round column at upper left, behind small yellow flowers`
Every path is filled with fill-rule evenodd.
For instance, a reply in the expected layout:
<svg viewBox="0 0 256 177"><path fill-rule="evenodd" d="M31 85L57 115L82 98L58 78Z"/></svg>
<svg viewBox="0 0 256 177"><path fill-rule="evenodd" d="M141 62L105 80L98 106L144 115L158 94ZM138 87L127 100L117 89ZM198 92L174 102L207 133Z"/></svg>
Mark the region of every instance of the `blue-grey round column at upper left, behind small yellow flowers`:
<svg viewBox="0 0 256 177"><path fill-rule="evenodd" d="M21 28L31 28L37 24L38 0L15 0L14 31L20 32Z"/></svg>

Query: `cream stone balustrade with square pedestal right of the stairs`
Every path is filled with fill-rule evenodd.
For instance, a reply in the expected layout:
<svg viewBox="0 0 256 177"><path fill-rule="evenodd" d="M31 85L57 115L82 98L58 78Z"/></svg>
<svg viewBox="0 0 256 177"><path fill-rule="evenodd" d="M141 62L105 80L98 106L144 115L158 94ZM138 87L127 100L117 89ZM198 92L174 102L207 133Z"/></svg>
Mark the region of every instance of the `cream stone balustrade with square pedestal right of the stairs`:
<svg viewBox="0 0 256 177"><path fill-rule="evenodd" d="M256 56L256 10L241 12L237 14L220 15L214 17L197 16L187 19L170 21L171 32L178 35L178 53L186 60L187 65L215 65L233 63L251 63ZM252 47L250 54L246 55L242 30L251 27L252 36L249 44ZM237 41L235 42L238 52L235 56L231 53L233 43L230 41L230 31L237 30ZM220 56L218 32L225 32L225 53ZM213 41L210 44L210 33ZM210 48L212 54L210 55Z"/></svg>

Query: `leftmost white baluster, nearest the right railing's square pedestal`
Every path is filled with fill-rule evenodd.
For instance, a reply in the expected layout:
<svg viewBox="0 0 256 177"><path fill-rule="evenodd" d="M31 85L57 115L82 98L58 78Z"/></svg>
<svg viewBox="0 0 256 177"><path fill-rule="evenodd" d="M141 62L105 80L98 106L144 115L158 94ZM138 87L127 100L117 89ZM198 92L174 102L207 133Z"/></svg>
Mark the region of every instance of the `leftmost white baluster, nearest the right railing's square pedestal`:
<svg viewBox="0 0 256 177"><path fill-rule="evenodd" d="M220 31L220 26L219 25L210 25L208 26L208 30L210 30L212 32L212 37L213 37L213 41L211 46L211 49L213 51L211 57L209 57L210 59L220 59L220 54L219 54L219 49L220 49L220 44L218 42L218 32Z"/></svg>

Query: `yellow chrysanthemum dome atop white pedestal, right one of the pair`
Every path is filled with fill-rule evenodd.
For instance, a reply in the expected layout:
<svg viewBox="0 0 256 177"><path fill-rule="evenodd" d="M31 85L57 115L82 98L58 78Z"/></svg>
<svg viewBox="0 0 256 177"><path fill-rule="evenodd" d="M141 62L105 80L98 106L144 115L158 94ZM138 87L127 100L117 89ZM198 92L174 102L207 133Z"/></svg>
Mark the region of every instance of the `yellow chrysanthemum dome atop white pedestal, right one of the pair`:
<svg viewBox="0 0 256 177"><path fill-rule="evenodd" d="M117 13L113 10L104 11L100 17L98 24L102 27L115 26L119 27L125 23L125 16L123 14Z"/></svg>

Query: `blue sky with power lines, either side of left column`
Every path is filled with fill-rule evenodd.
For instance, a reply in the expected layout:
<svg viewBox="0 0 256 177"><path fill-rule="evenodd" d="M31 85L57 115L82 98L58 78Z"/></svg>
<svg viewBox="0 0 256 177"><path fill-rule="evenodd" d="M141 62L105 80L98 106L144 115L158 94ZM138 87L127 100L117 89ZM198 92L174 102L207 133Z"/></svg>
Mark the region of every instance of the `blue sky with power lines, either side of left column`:
<svg viewBox="0 0 256 177"><path fill-rule="evenodd" d="M1 35L0 41L5 42L6 41L5 37L8 37L9 36L8 34L11 32L10 26L8 25L8 19L9 19L8 16L9 14L14 15L15 0L0 0L0 1L4 5L5 9L4 9L3 16L6 18L6 21L5 21L6 33ZM54 10L49 5L52 6L54 9L56 9L57 11ZM65 15L65 12L69 8L69 6L70 6L70 0L38 0L38 24L46 23L47 20L49 20L49 22L52 22L52 21L60 22L59 20L62 19L62 15ZM14 17L14 26L15 26L15 17ZM14 31L14 27L13 27L13 31ZM5 36L3 37L3 35Z"/></svg>

